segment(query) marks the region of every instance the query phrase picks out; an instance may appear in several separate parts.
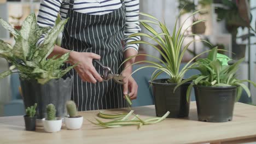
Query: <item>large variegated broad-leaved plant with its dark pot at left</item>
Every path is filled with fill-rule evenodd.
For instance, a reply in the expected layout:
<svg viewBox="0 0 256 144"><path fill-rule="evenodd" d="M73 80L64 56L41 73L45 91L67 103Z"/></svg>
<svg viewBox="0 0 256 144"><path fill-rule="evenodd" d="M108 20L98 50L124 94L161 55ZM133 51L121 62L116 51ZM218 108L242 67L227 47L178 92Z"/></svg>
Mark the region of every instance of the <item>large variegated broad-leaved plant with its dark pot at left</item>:
<svg viewBox="0 0 256 144"><path fill-rule="evenodd" d="M57 115L64 117L65 102L71 98L73 77L65 74L75 65L66 69L61 68L68 60L69 53L47 58L53 51L57 36L62 32L66 22L67 20L60 21L53 28L39 27L36 15L30 14L22 23L21 29L17 30L0 19L1 25L10 31L15 39L14 46L0 40L0 57L12 64L9 70L0 74L0 78L13 73L20 74L25 107L37 103L39 119L45 117L45 106L49 103L54 103L58 107ZM46 34L44 42L36 46L43 33Z"/></svg>

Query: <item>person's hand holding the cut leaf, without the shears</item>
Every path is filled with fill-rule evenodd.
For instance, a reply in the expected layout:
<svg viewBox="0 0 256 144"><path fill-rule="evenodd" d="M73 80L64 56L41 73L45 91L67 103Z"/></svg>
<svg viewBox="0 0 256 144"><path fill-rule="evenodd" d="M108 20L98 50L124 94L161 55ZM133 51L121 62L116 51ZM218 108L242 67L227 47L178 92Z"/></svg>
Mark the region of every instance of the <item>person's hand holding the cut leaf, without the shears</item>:
<svg viewBox="0 0 256 144"><path fill-rule="evenodd" d="M131 76L132 73L132 67L126 68L122 75L125 77L123 80L124 83L124 95L128 94L130 95L131 99L136 99L137 98L137 91L138 91L138 85L136 81L132 78Z"/></svg>

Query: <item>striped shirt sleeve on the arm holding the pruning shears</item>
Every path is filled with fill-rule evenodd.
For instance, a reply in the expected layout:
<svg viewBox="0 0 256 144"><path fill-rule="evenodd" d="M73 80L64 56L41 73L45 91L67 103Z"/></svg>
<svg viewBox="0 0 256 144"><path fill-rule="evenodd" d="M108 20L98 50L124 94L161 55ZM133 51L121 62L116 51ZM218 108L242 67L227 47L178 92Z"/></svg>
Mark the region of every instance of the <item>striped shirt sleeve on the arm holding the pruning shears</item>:
<svg viewBox="0 0 256 144"><path fill-rule="evenodd" d="M40 27L53 27L59 14L62 0L41 0L37 16L37 23ZM37 41L37 46L43 43L45 34Z"/></svg>

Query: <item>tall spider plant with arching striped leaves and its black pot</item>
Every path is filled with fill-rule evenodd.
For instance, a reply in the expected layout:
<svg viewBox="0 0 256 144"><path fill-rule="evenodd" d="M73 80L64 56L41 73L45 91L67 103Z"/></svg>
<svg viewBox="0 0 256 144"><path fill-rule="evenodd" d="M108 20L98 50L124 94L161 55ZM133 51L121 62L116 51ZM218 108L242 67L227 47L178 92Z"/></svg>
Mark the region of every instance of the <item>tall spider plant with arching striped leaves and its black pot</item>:
<svg viewBox="0 0 256 144"><path fill-rule="evenodd" d="M191 14L189 17L199 13L201 10L195 11L195 13ZM185 31L182 32L182 28L184 26L184 23L189 19L187 17L187 20L185 20L180 27L177 27L177 21L173 29L173 33L170 34L168 31L166 25L162 22L160 22L156 17L148 14L141 13L141 15L149 17L151 20L141 20L141 25L145 27L150 33L135 33L131 34L130 37L134 36L142 36L142 37L148 37L151 40L154 40L156 43L158 43L159 47L147 42L147 41L132 41L130 44L147 44L149 46L152 46L155 50L157 50L161 56L165 59L166 63L162 61L158 57L154 57L151 55L141 54L132 56L130 58L127 58L124 62L129 61L129 59L137 56L148 56L153 57L160 63L152 62L152 61L138 61L137 63L148 63L149 65L143 66L141 68L136 69L133 71L133 73L136 73L136 71L143 69L143 68L155 68L156 70L152 74L152 81L150 83L153 86L153 95L155 99L155 109L156 109L156 116L164 116L167 111L170 111L170 115L168 117L187 117L189 114L189 101L185 100L185 93L187 91L188 86L190 83L184 83L181 87L177 89L175 93L173 92L173 88L180 83L183 80L184 74L188 70L188 68L193 67L195 63L192 64L195 58L199 57L200 55L197 55L196 57L192 58L183 68L181 68L182 59L184 56L184 53L188 50L188 47L190 44L192 44L195 40L190 41L187 45L183 47L183 41L185 38L184 33L188 30L189 27L196 25L196 23L206 21L207 19L202 19L199 21L196 21L192 23L189 27L185 28ZM155 29L153 29L149 24L157 25L161 28L161 32L156 32ZM205 40L200 40L205 41ZM206 41L207 42L207 41ZM205 53L205 52L204 52ZM132 73L132 74L133 74ZM169 79L158 79L156 80L156 77L158 77L161 73L166 73L168 76L170 76Z"/></svg>

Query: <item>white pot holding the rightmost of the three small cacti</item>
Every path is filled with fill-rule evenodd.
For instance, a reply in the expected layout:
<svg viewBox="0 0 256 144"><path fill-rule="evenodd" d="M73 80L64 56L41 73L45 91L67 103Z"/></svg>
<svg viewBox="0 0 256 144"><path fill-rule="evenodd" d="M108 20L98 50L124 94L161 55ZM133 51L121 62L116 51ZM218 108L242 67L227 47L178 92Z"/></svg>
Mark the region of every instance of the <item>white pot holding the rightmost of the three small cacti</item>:
<svg viewBox="0 0 256 144"><path fill-rule="evenodd" d="M64 117L64 122L67 129L80 129L82 127L84 117Z"/></svg>

